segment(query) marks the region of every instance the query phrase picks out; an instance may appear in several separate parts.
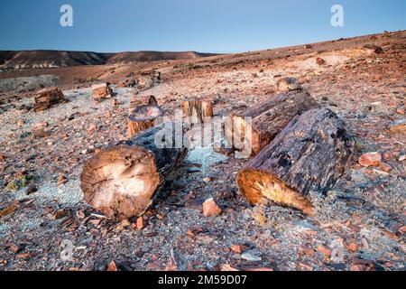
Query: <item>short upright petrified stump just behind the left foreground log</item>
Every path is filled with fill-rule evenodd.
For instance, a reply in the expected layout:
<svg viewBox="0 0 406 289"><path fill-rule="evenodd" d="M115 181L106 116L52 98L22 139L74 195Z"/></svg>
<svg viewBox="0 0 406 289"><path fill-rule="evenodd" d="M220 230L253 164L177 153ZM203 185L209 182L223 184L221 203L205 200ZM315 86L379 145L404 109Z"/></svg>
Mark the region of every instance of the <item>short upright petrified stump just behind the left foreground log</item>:
<svg viewBox="0 0 406 289"><path fill-rule="evenodd" d="M128 138L155 126L157 118L161 117L162 114L162 109L158 106L135 107L128 116Z"/></svg>

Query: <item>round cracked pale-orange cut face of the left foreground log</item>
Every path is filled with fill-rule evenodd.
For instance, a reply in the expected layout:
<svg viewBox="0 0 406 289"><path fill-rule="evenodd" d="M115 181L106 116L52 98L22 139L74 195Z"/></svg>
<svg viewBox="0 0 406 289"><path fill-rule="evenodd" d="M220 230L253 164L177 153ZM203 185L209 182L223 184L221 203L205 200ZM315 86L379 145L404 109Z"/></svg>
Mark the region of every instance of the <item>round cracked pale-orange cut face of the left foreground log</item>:
<svg viewBox="0 0 406 289"><path fill-rule="evenodd" d="M85 200L109 219L142 215L159 184L155 157L140 146L106 149L88 161L80 176Z"/></svg>

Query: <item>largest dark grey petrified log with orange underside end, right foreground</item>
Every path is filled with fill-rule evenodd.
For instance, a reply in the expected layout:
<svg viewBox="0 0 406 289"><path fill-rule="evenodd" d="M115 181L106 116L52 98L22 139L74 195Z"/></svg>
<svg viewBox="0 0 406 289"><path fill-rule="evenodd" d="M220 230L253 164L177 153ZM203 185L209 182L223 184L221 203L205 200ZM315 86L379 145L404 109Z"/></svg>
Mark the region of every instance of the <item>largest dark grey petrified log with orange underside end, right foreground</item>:
<svg viewBox="0 0 406 289"><path fill-rule="evenodd" d="M310 191L325 195L346 171L354 138L327 108L312 109L291 123L238 172L239 190L252 204L276 204L312 215Z"/></svg>

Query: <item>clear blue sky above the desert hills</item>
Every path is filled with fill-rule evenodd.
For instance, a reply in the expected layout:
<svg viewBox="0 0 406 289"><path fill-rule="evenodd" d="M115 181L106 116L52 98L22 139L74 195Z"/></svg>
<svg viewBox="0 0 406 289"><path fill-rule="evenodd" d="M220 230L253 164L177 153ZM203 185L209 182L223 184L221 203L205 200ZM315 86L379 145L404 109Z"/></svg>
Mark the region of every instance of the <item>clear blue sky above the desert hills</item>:
<svg viewBox="0 0 406 289"><path fill-rule="evenodd" d="M0 50L255 51L406 29L406 0L0 0ZM60 5L73 27L60 26ZM345 26L330 8L344 6Z"/></svg>

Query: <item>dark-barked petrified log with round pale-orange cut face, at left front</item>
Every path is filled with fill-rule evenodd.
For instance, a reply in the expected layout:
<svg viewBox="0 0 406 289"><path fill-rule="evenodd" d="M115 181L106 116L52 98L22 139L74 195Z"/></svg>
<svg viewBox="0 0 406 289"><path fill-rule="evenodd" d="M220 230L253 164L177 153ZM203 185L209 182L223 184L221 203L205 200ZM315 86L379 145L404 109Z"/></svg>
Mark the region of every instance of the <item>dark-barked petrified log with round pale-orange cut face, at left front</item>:
<svg viewBox="0 0 406 289"><path fill-rule="evenodd" d="M93 156L80 176L84 198L109 219L140 216L167 180L172 180L186 148L159 148L162 127L154 126Z"/></svg>

